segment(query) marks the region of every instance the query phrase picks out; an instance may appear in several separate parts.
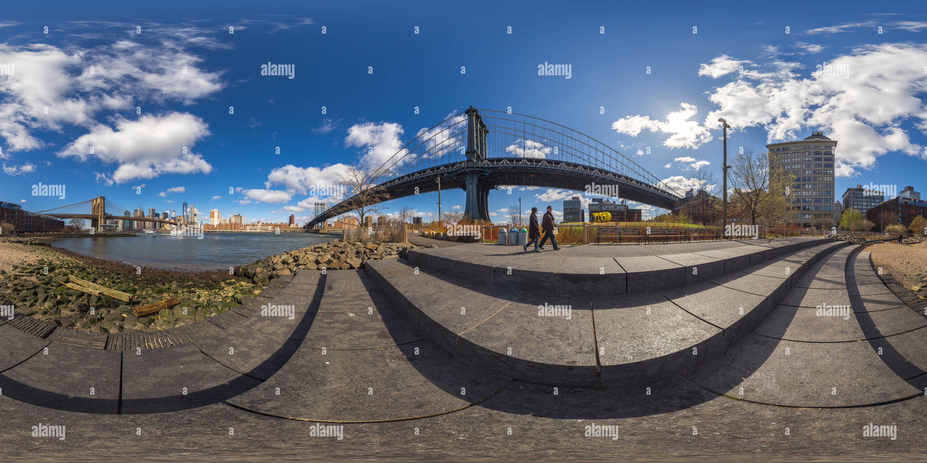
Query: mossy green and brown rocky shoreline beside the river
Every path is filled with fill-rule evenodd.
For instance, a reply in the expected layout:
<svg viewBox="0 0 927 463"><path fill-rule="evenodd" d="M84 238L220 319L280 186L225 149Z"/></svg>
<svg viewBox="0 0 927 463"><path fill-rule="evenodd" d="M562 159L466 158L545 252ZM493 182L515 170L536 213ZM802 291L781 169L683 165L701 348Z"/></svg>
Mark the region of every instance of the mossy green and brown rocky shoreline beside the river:
<svg viewBox="0 0 927 463"><path fill-rule="evenodd" d="M113 333L160 331L213 317L299 269L362 269L366 260L404 257L409 249L424 247L332 241L265 257L229 274L147 268L139 273L130 265L83 256L32 238L0 239L0 246L10 245L25 246L29 256L37 256L22 257L10 270L0 269L0 305L57 326ZM65 285L70 275L132 294L132 300L71 289ZM173 296L180 299L175 307L145 317L133 315L133 307Z"/></svg>

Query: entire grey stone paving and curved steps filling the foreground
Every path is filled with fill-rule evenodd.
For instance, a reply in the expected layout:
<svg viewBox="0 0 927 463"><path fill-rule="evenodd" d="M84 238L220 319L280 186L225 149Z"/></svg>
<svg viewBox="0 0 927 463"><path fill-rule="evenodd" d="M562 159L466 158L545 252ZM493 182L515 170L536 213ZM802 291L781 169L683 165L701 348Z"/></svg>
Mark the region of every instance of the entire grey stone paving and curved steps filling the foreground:
<svg viewBox="0 0 927 463"><path fill-rule="evenodd" d="M155 337L4 319L0 455L922 459L927 318L862 246L408 257L299 270Z"/></svg>

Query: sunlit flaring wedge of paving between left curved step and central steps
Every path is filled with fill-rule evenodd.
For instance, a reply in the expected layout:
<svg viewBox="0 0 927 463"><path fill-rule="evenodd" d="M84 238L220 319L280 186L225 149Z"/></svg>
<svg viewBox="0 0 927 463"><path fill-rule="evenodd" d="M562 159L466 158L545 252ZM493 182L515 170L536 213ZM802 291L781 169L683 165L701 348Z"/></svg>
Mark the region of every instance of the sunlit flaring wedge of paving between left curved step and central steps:
<svg viewBox="0 0 927 463"><path fill-rule="evenodd" d="M292 419L413 419L469 407L509 383L425 339L371 280L364 270L329 271L311 328L286 365L228 402Z"/></svg>

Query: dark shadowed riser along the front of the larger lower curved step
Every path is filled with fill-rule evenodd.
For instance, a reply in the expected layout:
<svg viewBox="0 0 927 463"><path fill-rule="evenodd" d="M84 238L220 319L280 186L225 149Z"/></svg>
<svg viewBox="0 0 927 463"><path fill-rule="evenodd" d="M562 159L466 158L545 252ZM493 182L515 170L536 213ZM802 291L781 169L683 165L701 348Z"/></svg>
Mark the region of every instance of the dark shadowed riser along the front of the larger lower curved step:
<svg viewBox="0 0 927 463"><path fill-rule="evenodd" d="M824 243L820 243L820 244L824 244ZM809 259L807 259L806 262L804 262L799 268L795 269L788 278L783 279L783 282L781 283L781 286L778 290L776 290L772 294L769 294L768 296L765 297L764 301L760 303L760 306L758 306L758 309L755 307L754 310L751 310L743 318L738 319L733 325L731 325L727 329L724 329L718 332L713 338L706 339L698 344L689 346L678 352L667 354L666 356L650 358L650 359L643 360L641 362L636 362L636 363L640 363L642 365L645 362L659 363L659 362L667 361L667 360L672 361L674 358L675 359L679 359L679 358L688 359L691 357L695 357L695 356L689 356L689 357L679 356L679 352L691 351L692 347L695 347L695 346L698 346L701 348L711 341L714 341L714 343L717 345L723 345L723 347L720 350L715 349L714 353L710 352L709 350L706 352L706 354L708 355L704 357L698 356L697 360L695 361L687 360L685 361L685 365L680 366L678 369L670 370L668 372L666 368L657 369L662 372L658 375L654 375L654 377L652 378L641 377L641 378L635 379L632 382L621 382L620 384L617 384L617 383L616 384L604 384L601 382L601 376L600 376L597 378L597 382L595 383L586 383L586 382L577 383L577 384L561 383L560 385L613 386L613 385L626 385L626 384L634 384L634 383L641 383L641 382L650 382L650 381L654 381L654 380L658 380L661 378L666 378L668 376L678 374L688 369L695 368L699 365L702 365L708 362L709 360L715 357L721 356L725 352L727 352L731 347L733 347L735 344L738 344L741 340L743 340L743 338L745 338L747 334L749 334L750 332L753 332L753 330L756 329L756 327L759 326L759 324L762 323L764 319L766 319L768 314L781 303L782 299L786 296L786 294L788 294L790 291L794 289L795 284L797 284L798 280L800 280L802 277L805 276L808 269L811 269L811 267L813 267L816 263L818 263L822 257L830 255L831 253L839 250L840 248L844 247L847 244L849 243L833 242L832 246L826 249L820 250L813 257L810 257ZM808 247L808 246L804 246L804 247ZM799 252L802 249L804 249L804 247L800 247L799 249L794 249L791 252L792 253ZM772 257L772 258L775 258L775 257ZM847 257L847 260L848 259L849 257ZM443 348L444 350L451 353L452 356L464 361L465 363L469 365L473 365L476 368L490 371L504 378L517 379L517 380L526 381L526 382L536 382L540 384L550 383L551 376L546 373L538 374L538 375L526 375L525 374L526 370L535 370L535 371L543 372L545 370L549 371L551 368L566 367L566 366L561 366L561 365L543 364L540 362L532 362L532 361L527 361L527 360L520 360L518 362L520 368L512 368L512 367L507 366L506 364L511 363L514 357L507 357L506 360L509 360L509 362L496 362L496 364L476 364L472 361L472 359L474 358L488 359L488 358L493 358L496 356L493 352L477 344L473 344L469 342L461 343L456 332L451 332L450 330L445 328L443 325L440 325L434 319L431 319L430 317L428 317L424 312L414 307L414 305L411 302L409 301L403 302L402 299L397 296L398 291L387 281L386 278L380 275L380 273L377 271L375 266L368 266L367 273L370 275L371 279L374 280L374 282L376 282L376 284L379 285L380 288L384 290L384 293L387 294L387 296L389 297L393 305L396 307L400 307L400 311L410 320L411 323L413 323L413 326L416 329L418 329L420 332L423 332L425 335L428 335L428 333L438 333L438 335L435 335L435 336L428 335L428 338L435 344L440 345L441 348ZM718 338L718 336L720 336L720 338ZM460 349L464 346L472 348L474 352L468 353L468 354L462 354L460 352ZM608 369L608 368L609 366L603 366L603 369ZM518 371L518 374L514 374L515 370Z"/></svg>

